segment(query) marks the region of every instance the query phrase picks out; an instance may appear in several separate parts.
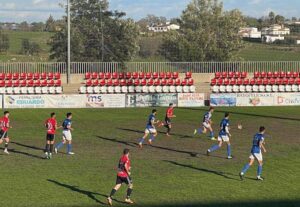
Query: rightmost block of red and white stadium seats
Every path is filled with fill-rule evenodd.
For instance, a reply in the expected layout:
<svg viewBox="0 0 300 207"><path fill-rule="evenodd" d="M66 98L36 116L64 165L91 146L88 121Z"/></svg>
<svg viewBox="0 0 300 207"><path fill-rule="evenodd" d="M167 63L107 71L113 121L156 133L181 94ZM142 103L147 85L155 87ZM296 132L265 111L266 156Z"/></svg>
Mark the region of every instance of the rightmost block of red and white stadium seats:
<svg viewBox="0 0 300 207"><path fill-rule="evenodd" d="M211 80L213 93L299 92L299 72L217 72Z"/></svg>

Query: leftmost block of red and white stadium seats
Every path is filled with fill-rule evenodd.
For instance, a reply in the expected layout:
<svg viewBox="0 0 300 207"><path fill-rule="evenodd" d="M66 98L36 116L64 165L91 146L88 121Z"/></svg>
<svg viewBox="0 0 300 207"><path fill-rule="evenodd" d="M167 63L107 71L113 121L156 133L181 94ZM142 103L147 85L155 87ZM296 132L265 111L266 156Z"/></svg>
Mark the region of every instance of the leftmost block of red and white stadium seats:
<svg viewBox="0 0 300 207"><path fill-rule="evenodd" d="M61 94L60 73L0 73L0 94Z"/></svg>

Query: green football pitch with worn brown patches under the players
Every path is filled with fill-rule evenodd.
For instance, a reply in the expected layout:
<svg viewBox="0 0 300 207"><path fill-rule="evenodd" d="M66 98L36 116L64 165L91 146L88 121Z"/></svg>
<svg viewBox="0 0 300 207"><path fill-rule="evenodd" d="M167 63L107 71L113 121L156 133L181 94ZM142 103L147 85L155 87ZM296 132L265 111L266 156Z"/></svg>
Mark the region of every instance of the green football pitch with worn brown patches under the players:
<svg viewBox="0 0 300 207"><path fill-rule="evenodd" d="M157 109L163 120L165 108ZM0 152L0 206L105 206L124 148L131 150L134 206L300 206L300 108L217 108L215 132L224 112L231 112L232 160L226 159L226 146L206 156L216 142L193 136L206 110L175 108L173 135L166 137L159 128L153 146L142 150L136 143L151 108L10 110L10 155ZM44 121L52 111L59 123L67 112L73 113L74 156L66 155L64 146L53 159L43 159ZM240 122L242 130L237 128ZM248 162L260 125L267 129L265 180L255 180L255 163L240 181L238 173ZM58 130L56 142L60 139ZM127 206L125 193L123 186L114 206Z"/></svg>

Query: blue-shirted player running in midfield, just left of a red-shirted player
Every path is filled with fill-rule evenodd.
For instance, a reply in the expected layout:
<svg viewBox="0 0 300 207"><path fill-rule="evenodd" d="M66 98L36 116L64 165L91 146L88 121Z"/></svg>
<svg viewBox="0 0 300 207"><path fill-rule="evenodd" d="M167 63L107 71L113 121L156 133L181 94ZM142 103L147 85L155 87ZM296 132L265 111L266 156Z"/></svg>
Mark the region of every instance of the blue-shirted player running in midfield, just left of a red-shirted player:
<svg viewBox="0 0 300 207"><path fill-rule="evenodd" d="M148 121L147 121L147 125L146 125L146 129L145 129L145 133L144 136L140 139L139 141L139 147L142 148L143 147L143 143L146 139L146 137L150 134L150 139L148 140L148 143L151 145L153 140L155 139L155 137L157 136L157 131L155 129L155 124L158 124L159 121L155 121L155 117L157 114L157 110L153 109L152 113L149 115L148 117Z"/></svg>

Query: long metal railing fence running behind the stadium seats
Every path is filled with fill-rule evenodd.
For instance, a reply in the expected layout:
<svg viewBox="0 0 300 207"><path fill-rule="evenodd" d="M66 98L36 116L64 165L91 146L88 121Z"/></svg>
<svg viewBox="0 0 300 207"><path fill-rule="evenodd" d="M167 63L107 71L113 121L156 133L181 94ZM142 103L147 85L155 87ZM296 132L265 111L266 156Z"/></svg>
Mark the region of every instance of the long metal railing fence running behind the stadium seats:
<svg viewBox="0 0 300 207"><path fill-rule="evenodd" d="M278 62L72 62L71 74L86 72L178 71L193 73L215 73L223 71L300 71L298 61ZM67 64L48 63L0 63L0 72L67 72Z"/></svg>

